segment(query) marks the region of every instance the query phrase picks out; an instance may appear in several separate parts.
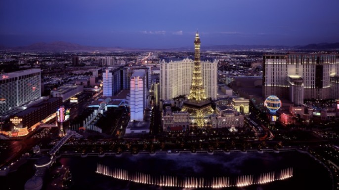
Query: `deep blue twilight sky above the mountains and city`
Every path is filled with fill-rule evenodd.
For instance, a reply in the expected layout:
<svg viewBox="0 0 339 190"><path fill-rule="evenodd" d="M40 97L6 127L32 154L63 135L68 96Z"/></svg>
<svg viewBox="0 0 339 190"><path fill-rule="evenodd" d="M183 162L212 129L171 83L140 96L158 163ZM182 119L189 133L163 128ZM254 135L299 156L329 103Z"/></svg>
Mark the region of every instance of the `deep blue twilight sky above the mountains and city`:
<svg viewBox="0 0 339 190"><path fill-rule="evenodd" d="M339 0L0 0L0 45L104 47L339 42Z"/></svg>

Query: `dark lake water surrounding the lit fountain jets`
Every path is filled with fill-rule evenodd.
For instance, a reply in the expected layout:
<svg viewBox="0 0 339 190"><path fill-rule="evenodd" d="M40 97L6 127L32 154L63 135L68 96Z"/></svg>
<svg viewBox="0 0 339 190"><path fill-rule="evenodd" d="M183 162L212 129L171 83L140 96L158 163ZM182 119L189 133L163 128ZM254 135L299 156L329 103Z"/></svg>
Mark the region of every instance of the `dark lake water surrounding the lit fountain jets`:
<svg viewBox="0 0 339 190"><path fill-rule="evenodd" d="M119 168L128 172L142 172L152 176L177 176L212 178L240 175L259 175L265 172L279 172L288 167L294 168L294 176L287 180L275 181L264 185L252 185L244 188L224 188L228 190L331 190L332 180L329 171L314 158L298 152L284 153L206 153L192 155L159 154L155 156L122 155L98 157L60 158L59 161L70 166L74 190L174 190L153 185L135 184L95 173L97 164L109 168Z"/></svg>

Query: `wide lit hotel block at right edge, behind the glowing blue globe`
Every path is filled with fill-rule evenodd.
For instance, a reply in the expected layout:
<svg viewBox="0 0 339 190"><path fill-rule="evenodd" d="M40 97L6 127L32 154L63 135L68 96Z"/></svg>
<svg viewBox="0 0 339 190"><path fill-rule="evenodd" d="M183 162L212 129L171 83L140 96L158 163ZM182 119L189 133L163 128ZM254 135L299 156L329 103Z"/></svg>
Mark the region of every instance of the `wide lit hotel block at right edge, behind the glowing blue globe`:
<svg viewBox="0 0 339 190"><path fill-rule="evenodd" d="M264 97L277 95L300 105L304 99L339 98L338 86L339 54L263 56Z"/></svg>

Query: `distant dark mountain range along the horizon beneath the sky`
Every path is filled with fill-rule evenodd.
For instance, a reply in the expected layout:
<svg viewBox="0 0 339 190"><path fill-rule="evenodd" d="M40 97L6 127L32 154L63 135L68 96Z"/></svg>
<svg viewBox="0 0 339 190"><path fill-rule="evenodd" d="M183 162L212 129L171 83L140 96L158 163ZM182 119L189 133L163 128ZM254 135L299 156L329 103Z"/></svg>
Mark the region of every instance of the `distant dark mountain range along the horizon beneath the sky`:
<svg viewBox="0 0 339 190"><path fill-rule="evenodd" d="M286 50L339 50L338 43L318 43L304 46L272 46L272 45L212 45L205 46L204 50L250 50L250 49L286 49ZM169 49L143 49L143 48L121 48L121 47L93 47L83 46L75 43L56 41L51 43L39 42L28 46L5 47L0 50L18 52L114 52L114 51L192 51L192 47L169 48Z"/></svg>

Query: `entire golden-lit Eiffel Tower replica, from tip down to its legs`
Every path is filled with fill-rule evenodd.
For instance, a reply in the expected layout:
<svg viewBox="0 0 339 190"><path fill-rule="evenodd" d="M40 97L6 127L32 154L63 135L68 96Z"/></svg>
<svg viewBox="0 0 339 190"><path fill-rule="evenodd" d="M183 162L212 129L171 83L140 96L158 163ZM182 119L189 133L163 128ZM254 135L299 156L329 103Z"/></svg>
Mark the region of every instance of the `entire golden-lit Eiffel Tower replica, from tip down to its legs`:
<svg viewBox="0 0 339 190"><path fill-rule="evenodd" d="M192 75L192 85L188 100L184 102L181 111L187 111L194 116L194 127L206 127L207 122L204 116L212 111L212 102L207 99L203 85L202 69L200 63L200 37L197 32L194 40L194 68Z"/></svg>

